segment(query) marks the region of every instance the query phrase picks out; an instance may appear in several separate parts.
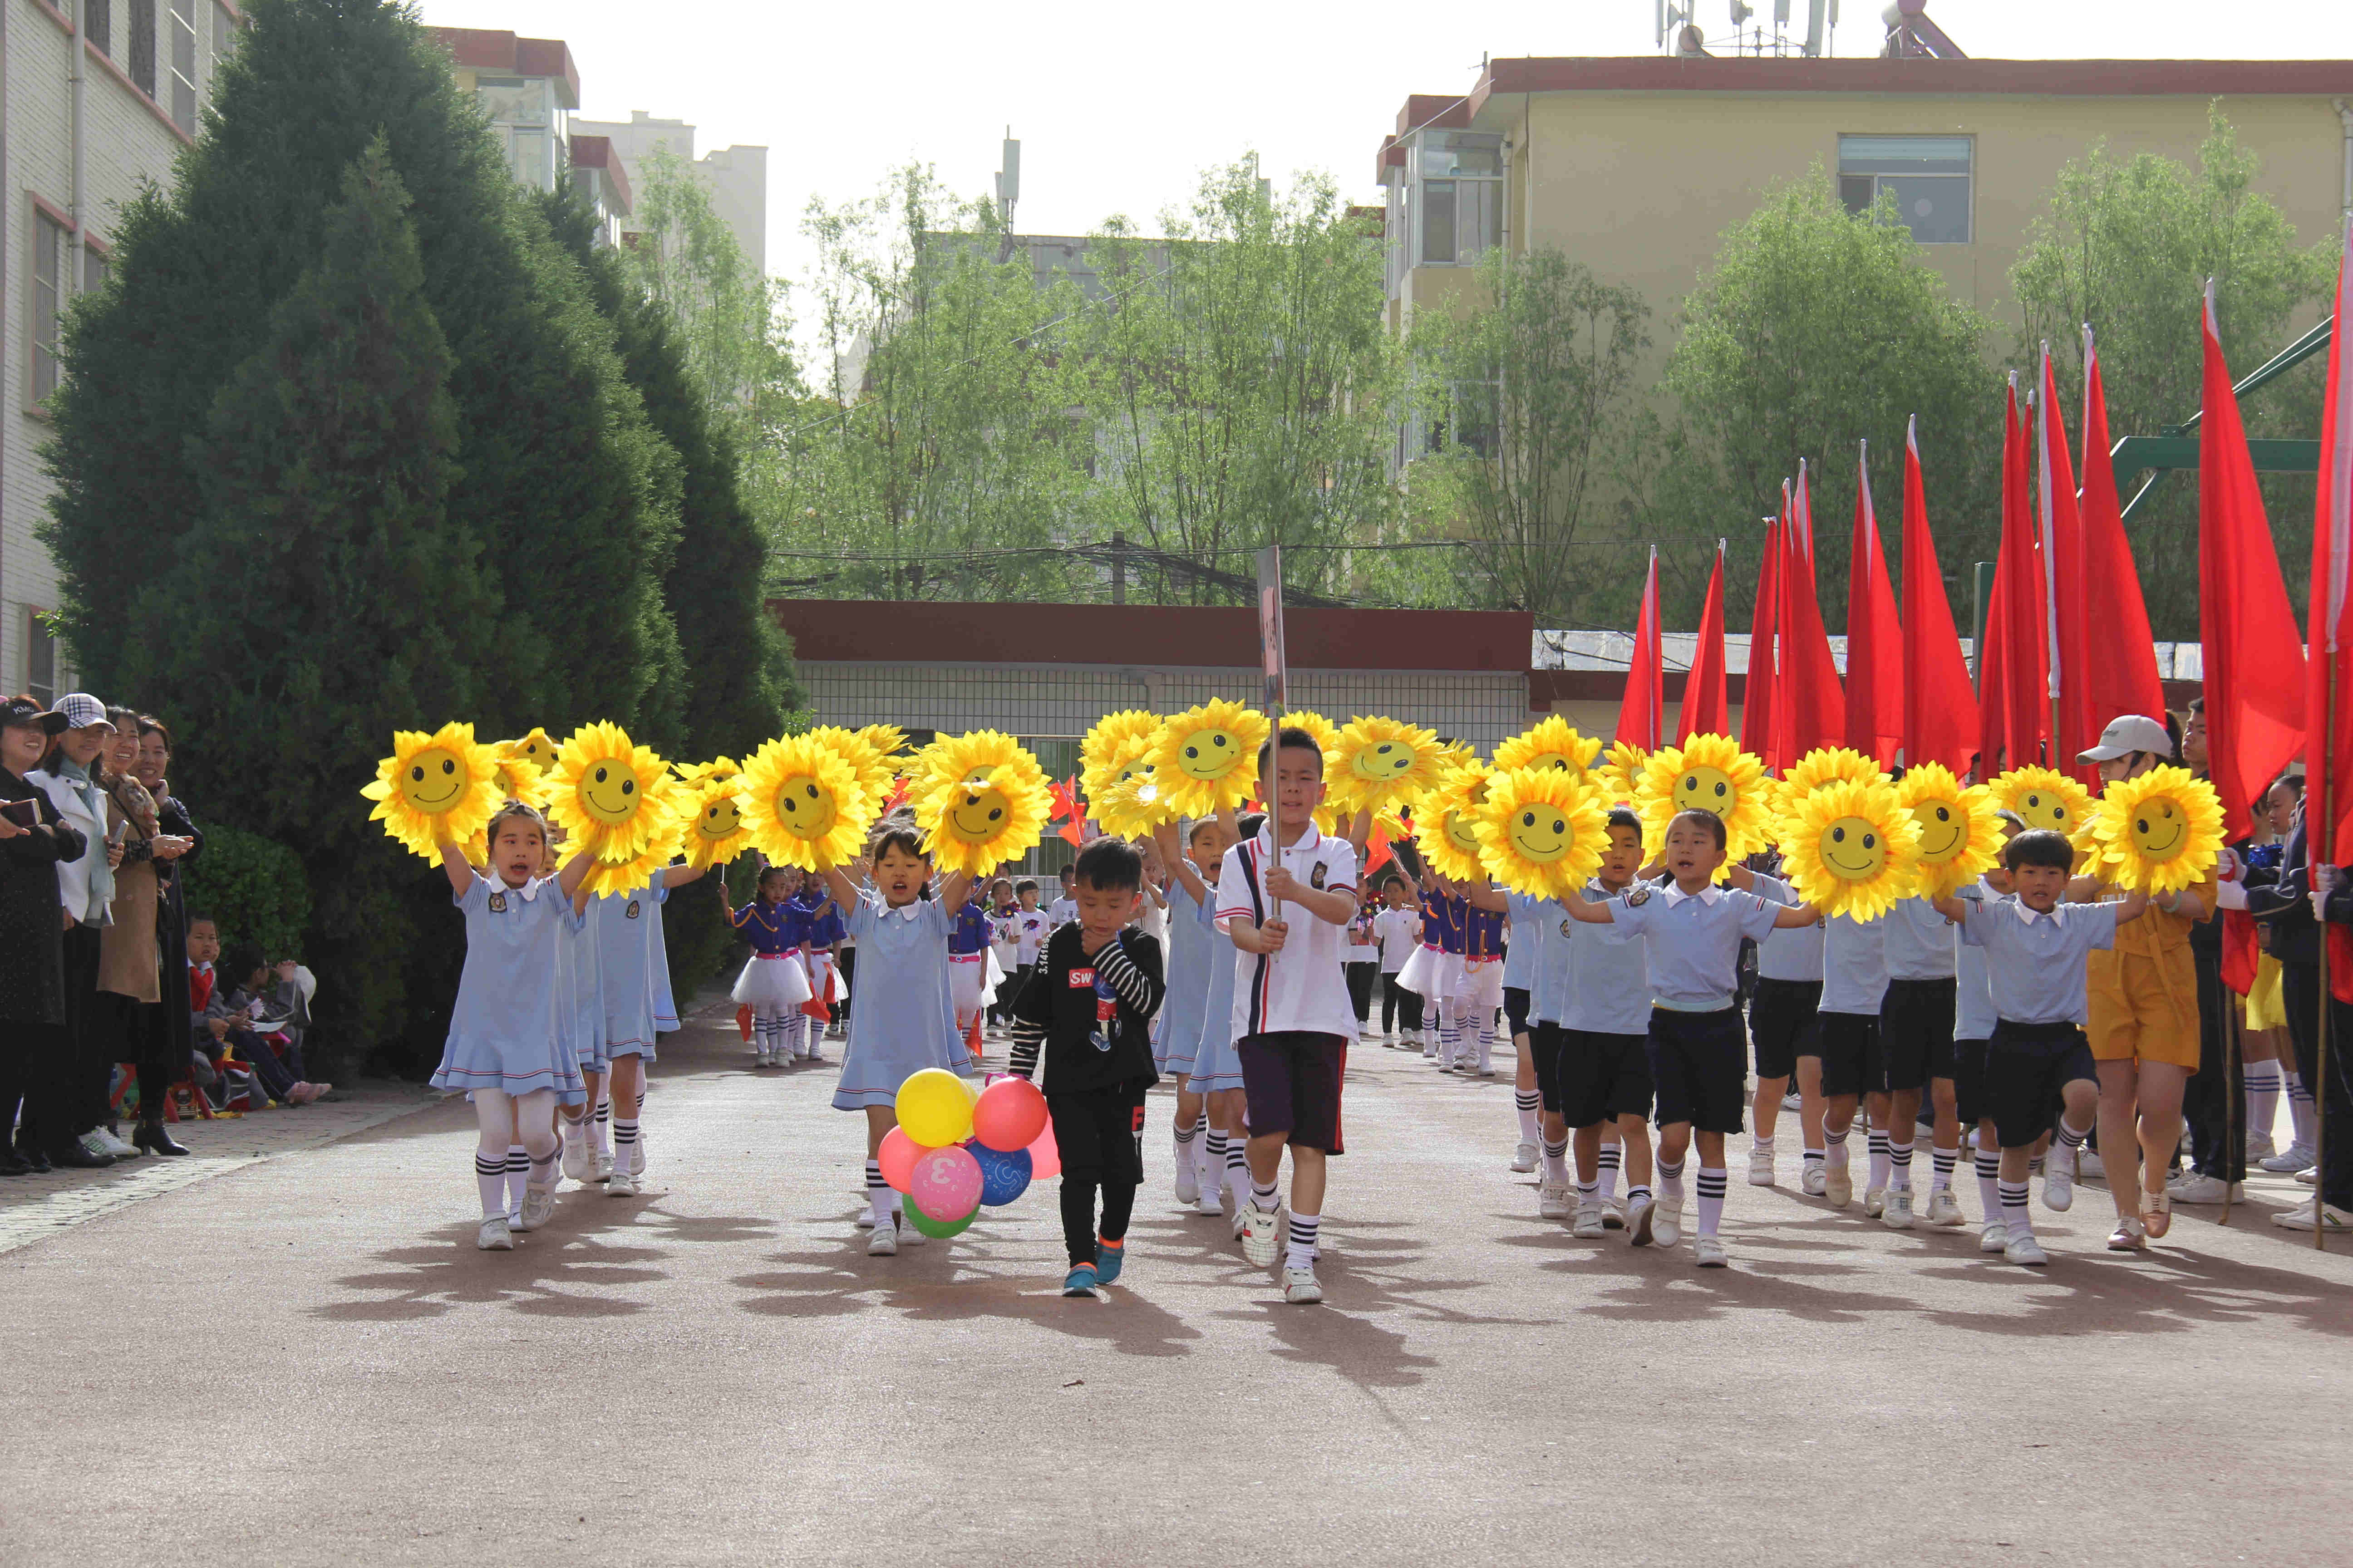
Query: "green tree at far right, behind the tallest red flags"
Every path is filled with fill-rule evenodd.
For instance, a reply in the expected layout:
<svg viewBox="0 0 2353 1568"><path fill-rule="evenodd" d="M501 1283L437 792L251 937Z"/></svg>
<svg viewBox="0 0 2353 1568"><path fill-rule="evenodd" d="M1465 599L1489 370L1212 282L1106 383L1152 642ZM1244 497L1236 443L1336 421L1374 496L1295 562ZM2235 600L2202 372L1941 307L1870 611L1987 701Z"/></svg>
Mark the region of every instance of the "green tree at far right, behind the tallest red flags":
<svg viewBox="0 0 2353 1568"><path fill-rule="evenodd" d="M2059 172L2049 205L2028 226L2026 249L2009 273L2024 310L2017 362L2040 374L2049 343L2068 435L2080 444L2082 324L2099 346L2108 395L2108 433L2155 435L2200 404L2205 355L2205 280L2214 280L2214 320L2231 371L2245 376L2287 346L2294 322L2325 299L2337 277L2334 237L2297 244L2297 230L2271 197L2254 190L2254 153L2221 106L2207 110L2198 165L2141 153L2118 160L2106 143ZM2249 435L2320 433L2322 360L2247 397ZM2134 475L2122 475L2132 496ZM2311 548L2313 482L2264 480L2273 536L2294 597ZM2198 487L2177 475L2134 510L2132 550L2141 569L2151 628L2158 637L2198 635Z"/></svg>

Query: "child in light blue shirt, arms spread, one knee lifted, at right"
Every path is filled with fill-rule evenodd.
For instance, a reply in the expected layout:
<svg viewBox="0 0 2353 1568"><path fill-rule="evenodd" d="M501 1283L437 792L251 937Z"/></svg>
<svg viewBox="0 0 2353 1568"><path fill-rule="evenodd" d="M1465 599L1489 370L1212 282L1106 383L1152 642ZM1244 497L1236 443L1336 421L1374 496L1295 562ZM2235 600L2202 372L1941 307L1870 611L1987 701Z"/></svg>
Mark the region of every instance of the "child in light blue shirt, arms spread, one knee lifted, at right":
<svg viewBox="0 0 2353 1568"><path fill-rule="evenodd" d="M2115 929L2141 917L2148 893L2118 903L2061 903L2075 846L2047 827L2002 846L2014 896L1979 903L1939 898L1937 912L1960 926L1960 940L1986 952L1986 987L1998 1016L1986 1041L1986 1110L2002 1145L2002 1255L2040 1269L2049 1255L2035 1241L2026 1208L2026 1173L2035 1138L2061 1100L2059 1150L2042 1168L2042 1204L2075 1201L2075 1161L2099 1112L2099 1070L2082 1037L2087 964L2115 947ZM2066 1159L2057 1154L2066 1154Z"/></svg>

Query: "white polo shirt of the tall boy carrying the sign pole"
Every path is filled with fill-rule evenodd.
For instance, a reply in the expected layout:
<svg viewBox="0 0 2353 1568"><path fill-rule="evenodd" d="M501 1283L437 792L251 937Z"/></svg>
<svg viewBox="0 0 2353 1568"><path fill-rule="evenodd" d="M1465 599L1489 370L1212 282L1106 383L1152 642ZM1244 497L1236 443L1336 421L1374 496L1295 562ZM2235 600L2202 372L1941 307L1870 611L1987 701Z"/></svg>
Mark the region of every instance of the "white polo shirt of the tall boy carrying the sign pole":
<svg viewBox="0 0 2353 1568"><path fill-rule="evenodd" d="M1259 884L1273 853L1275 842L1266 827L1226 851L1217 875L1219 931L1231 929L1235 917L1252 924L1275 917L1273 900ZM1282 865L1315 891L1355 893L1355 846L1313 823L1282 851ZM1282 952L1233 950L1233 1037L1304 1030L1355 1039L1355 1004L1348 1001L1348 978L1341 973L1346 929L1299 905L1285 905L1282 919L1292 929Z"/></svg>

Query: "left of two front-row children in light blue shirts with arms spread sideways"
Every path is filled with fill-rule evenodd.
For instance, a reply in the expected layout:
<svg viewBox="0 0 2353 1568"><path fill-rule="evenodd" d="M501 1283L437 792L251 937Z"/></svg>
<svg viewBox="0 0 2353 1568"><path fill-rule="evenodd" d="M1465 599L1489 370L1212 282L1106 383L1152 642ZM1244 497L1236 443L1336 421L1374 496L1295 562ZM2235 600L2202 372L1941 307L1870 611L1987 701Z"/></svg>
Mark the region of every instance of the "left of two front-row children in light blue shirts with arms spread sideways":
<svg viewBox="0 0 2353 1568"><path fill-rule="evenodd" d="M1652 1009L1649 1079L1659 1098L1659 1194L1626 1204L1633 1244L1673 1246L1682 1234L1682 1157L1699 1143L1699 1234L1692 1262L1720 1269L1729 1258L1718 1237L1725 1215L1725 1135L1741 1131L1748 1088L1748 1041L1741 1032L1741 938L1765 940L1779 926L1814 924L1814 905L1777 905L1748 891L1715 886L1725 863L1725 820L1678 811L1666 825L1666 886L1633 886L1621 898L1572 898L1572 919L1619 924L1642 938ZM1751 875L1734 872L1746 889ZM1574 938L1572 938L1574 940Z"/></svg>

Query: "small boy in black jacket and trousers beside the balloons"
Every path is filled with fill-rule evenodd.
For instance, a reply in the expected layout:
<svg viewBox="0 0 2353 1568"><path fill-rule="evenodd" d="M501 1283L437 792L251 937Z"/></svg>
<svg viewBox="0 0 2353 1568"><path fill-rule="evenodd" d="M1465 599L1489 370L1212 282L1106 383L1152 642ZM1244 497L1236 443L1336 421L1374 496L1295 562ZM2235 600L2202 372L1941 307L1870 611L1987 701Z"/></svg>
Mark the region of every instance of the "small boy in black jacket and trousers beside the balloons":
<svg viewBox="0 0 2353 1568"><path fill-rule="evenodd" d="M1038 1072L1061 1147L1061 1234L1071 1248L1064 1295L1094 1295L1120 1276L1127 1215L1144 1185L1144 1093L1153 1072L1153 1013L1167 994L1160 943L1125 931L1144 896L1134 844L1096 839L1078 851L1078 919L1056 929L1014 1001L1014 1077ZM1094 1225L1094 1190L1104 1225Z"/></svg>

